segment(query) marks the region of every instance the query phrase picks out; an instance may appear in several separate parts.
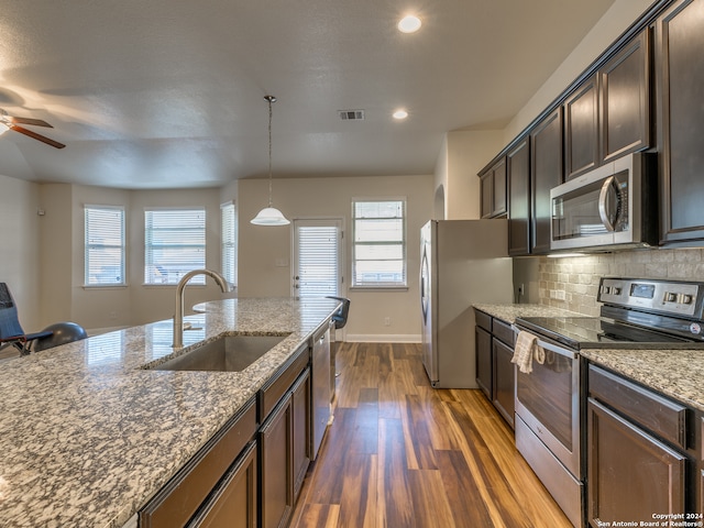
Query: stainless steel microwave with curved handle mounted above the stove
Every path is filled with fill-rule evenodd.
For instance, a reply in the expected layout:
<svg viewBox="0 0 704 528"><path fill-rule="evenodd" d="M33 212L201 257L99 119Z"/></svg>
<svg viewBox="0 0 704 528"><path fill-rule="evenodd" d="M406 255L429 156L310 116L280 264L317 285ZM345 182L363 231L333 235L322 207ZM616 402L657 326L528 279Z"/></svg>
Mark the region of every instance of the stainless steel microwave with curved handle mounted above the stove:
<svg viewBox="0 0 704 528"><path fill-rule="evenodd" d="M550 250L642 248L658 243L654 154L632 153L550 190Z"/></svg>

